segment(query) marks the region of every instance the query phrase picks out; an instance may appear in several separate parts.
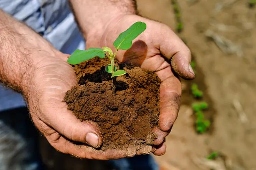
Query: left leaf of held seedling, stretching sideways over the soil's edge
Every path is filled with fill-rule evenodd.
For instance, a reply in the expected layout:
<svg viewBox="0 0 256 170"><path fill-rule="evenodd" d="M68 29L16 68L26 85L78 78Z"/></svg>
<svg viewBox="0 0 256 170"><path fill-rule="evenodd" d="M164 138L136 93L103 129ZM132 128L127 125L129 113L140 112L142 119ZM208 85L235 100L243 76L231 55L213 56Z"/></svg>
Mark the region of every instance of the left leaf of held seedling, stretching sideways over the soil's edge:
<svg viewBox="0 0 256 170"><path fill-rule="evenodd" d="M79 64L93 57L104 58L105 53L100 48L89 48L88 50L75 50L74 53L68 58L69 64Z"/></svg>

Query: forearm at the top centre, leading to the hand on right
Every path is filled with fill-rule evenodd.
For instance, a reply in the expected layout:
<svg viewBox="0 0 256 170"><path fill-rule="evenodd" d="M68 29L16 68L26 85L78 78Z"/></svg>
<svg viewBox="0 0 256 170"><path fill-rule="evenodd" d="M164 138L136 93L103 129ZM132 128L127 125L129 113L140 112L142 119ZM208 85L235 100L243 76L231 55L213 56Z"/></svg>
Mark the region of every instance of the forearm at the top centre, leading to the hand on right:
<svg viewBox="0 0 256 170"><path fill-rule="evenodd" d="M136 0L69 0L85 38L104 30L109 21L126 14L136 14Z"/></svg>

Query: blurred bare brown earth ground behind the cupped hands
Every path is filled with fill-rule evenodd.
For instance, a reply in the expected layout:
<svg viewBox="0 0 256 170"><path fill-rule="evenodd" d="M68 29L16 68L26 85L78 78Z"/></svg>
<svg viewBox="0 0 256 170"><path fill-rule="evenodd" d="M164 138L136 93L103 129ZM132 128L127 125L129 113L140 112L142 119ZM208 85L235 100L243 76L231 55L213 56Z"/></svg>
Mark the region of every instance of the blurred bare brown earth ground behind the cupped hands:
<svg viewBox="0 0 256 170"><path fill-rule="evenodd" d="M184 39L196 60L198 78L194 82L204 92L210 105L207 116L213 119L210 131L195 132L195 117L190 107L190 82L183 82L184 95L179 117L167 137L167 151L155 157L162 170L255 170L256 169L256 7L247 0L179 1ZM161 21L175 30L171 0L137 0L142 15ZM222 8L221 8L222 7ZM216 10L218 8L218 10ZM231 47L226 54L214 41L225 37L221 47ZM237 47L232 48L234 45ZM191 99L191 100L190 100ZM210 115L209 115L210 114ZM50 147L47 144L45 148ZM213 162L203 159L211 151L222 153ZM49 153L47 153L49 152ZM57 152L44 153L49 169L108 169L97 161L81 161ZM55 157L55 158L54 158ZM57 159L58 158L58 159ZM67 160L67 161L63 161ZM86 166L85 166L86 165Z"/></svg>

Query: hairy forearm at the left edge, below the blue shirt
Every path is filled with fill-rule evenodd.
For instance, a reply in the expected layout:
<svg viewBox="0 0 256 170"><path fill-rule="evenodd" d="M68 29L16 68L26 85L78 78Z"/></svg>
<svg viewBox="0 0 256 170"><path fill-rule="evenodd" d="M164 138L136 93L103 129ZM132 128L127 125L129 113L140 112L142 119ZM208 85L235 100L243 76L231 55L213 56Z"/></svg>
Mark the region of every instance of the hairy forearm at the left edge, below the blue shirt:
<svg viewBox="0 0 256 170"><path fill-rule="evenodd" d="M0 10L0 82L18 92L29 88L36 65L53 47L25 24ZM41 55L41 56L40 56Z"/></svg>

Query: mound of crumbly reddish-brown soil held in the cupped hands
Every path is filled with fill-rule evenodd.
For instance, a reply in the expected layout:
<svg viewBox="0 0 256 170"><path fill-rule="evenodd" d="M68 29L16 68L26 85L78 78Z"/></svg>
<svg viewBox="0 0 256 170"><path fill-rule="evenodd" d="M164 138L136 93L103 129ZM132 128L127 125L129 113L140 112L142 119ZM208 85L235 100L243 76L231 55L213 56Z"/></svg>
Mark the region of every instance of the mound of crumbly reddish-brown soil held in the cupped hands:
<svg viewBox="0 0 256 170"><path fill-rule="evenodd" d="M66 92L64 101L81 121L94 121L101 130L101 150L152 145L153 127L159 118L160 80L152 72L119 64L127 74L117 77L116 95L104 67L107 59L95 57L75 65L78 84Z"/></svg>

